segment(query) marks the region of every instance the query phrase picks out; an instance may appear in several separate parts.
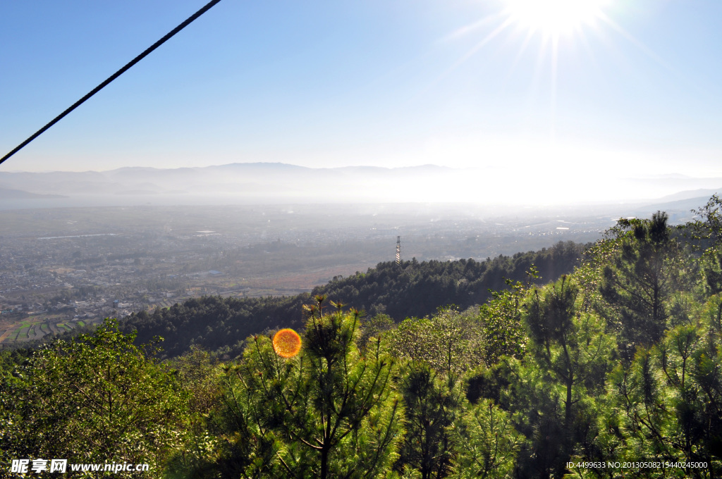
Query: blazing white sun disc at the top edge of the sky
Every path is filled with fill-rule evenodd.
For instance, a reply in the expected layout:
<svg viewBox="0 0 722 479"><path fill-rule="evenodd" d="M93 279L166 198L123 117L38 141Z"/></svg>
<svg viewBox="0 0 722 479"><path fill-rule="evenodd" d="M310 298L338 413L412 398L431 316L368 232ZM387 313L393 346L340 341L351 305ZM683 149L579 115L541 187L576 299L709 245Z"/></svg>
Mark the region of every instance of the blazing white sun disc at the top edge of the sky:
<svg viewBox="0 0 722 479"><path fill-rule="evenodd" d="M604 15L609 0L506 0L508 19L531 32L560 37Z"/></svg>

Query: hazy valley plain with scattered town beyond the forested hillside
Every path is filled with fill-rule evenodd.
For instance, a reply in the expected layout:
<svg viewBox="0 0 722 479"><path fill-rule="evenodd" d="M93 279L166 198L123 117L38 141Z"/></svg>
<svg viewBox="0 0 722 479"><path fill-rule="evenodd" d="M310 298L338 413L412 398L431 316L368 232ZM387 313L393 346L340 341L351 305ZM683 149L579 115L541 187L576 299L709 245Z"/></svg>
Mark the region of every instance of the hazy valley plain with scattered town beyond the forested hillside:
<svg viewBox="0 0 722 479"><path fill-rule="evenodd" d="M28 180L23 187L31 185ZM690 198L695 193L706 192L646 204L555 207L303 203L4 209L0 342L36 340L202 295L311 291L393 260L398 237L404 260L484 260L558 242L593 242L617 218L644 218L658 209L682 223L692 218L690 209L706 201Z"/></svg>

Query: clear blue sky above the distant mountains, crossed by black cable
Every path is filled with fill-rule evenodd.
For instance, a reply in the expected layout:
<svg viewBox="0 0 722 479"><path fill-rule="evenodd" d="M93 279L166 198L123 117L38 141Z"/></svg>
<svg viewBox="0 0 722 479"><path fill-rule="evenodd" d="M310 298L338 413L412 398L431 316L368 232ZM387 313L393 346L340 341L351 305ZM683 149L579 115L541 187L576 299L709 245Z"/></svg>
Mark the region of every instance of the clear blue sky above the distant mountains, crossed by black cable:
<svg viewBox="0 0 722 479"><path fill-rule="evenodd" d="M722 2L514 1L223 0L0 168L722 176ZM203 4L0 2L1 154Z"/></svg>

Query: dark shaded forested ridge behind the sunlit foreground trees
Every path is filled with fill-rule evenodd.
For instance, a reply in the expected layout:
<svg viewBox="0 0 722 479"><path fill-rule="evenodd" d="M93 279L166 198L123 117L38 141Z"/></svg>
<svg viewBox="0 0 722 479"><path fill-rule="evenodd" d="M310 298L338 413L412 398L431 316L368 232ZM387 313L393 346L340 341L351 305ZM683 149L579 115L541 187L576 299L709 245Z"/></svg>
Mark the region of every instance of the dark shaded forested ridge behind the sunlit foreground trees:
<svg viewBox="0 0 722 479"><path fill-rule="evenodd" d="M539 270L536 281L553 281L579 264L583 245L559 242L538 252L499 256L485 261L403 261L379 263L366 273L334 278L309 294L292 297L220 298L204 296L155 312L139 312L121 322L121 330L135 331L137 343L155 336L165 340L169 357L191 346L209 351L223 349L240 354L242 341L251 334L273 328L303 329L301 304L325 294L337 302L367 312L367 317L386 314L393 320L432 315L439 307L456 304L466 309L482 304L490 291L505 289L505 280L526 281L531 265Z"/></svg>

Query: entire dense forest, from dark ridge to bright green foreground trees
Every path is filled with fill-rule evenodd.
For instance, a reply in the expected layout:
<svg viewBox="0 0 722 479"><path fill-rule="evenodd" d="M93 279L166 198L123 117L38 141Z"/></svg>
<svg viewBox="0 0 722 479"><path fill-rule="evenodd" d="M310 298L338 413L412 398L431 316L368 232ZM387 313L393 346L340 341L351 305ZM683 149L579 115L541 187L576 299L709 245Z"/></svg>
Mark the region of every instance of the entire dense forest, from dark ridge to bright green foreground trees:
<svg viewBox="0 0 722 479"><path fill-rule="evenodd" d="M573 271L575 245L383 263L4 351L0 477L719 477L722 201L667 220L619 220Z"/></svg>

